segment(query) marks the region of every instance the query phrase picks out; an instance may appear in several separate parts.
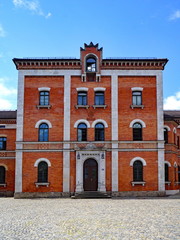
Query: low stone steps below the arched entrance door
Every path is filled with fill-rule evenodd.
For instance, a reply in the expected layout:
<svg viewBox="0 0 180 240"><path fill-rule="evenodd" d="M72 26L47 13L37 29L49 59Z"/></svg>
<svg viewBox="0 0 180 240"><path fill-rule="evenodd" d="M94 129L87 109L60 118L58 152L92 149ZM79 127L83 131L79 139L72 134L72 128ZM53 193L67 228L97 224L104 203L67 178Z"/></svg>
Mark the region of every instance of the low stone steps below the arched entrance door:
<svg viewBox="0 0 180 240"><path fill-rule="evenodd" d="M85 191L81 193L75 193L71 196L72 199L85 199L85 198L111 198L111 195L106 192L93 192Z"/></svg>

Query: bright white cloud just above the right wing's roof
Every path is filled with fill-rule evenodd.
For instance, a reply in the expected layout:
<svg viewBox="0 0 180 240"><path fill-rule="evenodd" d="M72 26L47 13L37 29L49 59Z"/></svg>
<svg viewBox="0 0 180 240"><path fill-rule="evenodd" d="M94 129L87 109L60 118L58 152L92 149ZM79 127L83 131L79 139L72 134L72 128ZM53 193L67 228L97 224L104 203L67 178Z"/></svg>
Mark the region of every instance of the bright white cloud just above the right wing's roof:
<svg viewBox="0 0 180 240"><path fill-rule="evenodd" d="M180 110L180 92L164 99L164 110Z"/></svg>

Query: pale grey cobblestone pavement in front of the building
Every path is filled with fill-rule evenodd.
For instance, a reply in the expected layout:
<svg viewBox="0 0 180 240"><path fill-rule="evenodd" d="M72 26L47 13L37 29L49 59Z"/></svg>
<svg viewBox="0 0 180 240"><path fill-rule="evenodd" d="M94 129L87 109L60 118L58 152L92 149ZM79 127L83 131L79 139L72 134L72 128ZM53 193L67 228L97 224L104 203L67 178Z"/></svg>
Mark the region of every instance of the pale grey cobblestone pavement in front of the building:
<svg viewBox="0 0 180 240"><path fill-rule="evenodd" d="M179 213L172 198L0 198L0 240L179 240Z"/></svg>

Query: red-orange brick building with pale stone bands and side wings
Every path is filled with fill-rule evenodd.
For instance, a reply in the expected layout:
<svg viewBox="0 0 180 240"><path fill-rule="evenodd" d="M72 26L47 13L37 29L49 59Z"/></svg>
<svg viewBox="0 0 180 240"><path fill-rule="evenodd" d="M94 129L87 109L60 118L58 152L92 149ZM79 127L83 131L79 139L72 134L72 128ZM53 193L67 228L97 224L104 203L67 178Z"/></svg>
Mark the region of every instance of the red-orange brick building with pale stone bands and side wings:
<svg viewBox="0 0 180 240"><path fill-rule="evenodd" d="M17 117L0 112L1 194L179 191L180 112L163 119L168 60L103 59L102 52L90 43L80 59L13 59L18 107Z"/></svg>

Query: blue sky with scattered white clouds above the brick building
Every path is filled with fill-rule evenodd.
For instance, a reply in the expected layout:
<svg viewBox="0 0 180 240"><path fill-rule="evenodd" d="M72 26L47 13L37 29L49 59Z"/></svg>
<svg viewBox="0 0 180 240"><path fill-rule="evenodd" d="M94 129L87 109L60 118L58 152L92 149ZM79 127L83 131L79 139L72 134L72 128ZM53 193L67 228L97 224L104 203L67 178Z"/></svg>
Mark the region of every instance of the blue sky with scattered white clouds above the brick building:
<svg viewBox="0 0 180 240"><path fill-rule="evenodd" d="M180 110L180 0L0 0L0 109L16 109L14 57L168 58L164 108Z"/></svg>

